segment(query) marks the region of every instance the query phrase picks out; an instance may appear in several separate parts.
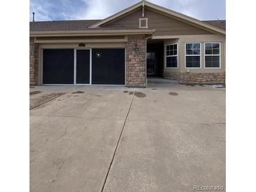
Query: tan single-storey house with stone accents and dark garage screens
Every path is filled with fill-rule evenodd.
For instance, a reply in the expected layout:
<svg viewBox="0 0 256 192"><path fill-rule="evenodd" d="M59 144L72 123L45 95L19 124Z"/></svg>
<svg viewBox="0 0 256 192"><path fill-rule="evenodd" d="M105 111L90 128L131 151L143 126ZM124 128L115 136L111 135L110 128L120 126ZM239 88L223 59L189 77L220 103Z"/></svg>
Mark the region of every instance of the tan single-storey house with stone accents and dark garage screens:
<svg viewBox="0 0 256 192"><path fill-rule="evenodd" d="M30 85L225 83L225 24L147 1L104 20L30 22Z"/></svg>

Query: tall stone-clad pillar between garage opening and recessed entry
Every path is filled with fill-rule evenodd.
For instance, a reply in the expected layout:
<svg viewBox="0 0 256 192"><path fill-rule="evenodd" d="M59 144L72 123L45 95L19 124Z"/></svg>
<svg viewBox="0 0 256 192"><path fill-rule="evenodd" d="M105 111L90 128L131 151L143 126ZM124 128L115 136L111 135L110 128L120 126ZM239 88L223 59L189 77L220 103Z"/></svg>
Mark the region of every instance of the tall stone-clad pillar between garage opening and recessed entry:
<svg viewBox="0 0 256 192"><path fill-rule="evenodd" d="M138 51L134 48L137 45ZM126 86L146 87L146 36L128 36L126 44Z"/></svg>

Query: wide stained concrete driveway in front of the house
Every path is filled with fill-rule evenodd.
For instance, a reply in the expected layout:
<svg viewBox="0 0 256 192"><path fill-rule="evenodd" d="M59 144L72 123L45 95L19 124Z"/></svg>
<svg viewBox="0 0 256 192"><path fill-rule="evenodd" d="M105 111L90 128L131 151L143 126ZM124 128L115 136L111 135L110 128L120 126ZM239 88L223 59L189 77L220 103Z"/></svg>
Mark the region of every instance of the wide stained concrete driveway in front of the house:
<svg viewBox="0 0 256 192"><path fill-rule="evenodd" d="M225 90L30 89L30 191L225 188Z"/></svg>

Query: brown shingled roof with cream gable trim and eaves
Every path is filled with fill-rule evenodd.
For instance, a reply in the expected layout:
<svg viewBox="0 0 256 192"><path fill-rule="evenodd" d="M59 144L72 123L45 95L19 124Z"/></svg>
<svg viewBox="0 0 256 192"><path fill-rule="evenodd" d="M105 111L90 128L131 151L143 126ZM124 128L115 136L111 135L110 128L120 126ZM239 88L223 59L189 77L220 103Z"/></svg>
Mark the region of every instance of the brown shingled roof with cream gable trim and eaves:
<svg viewBox="0 0 256 192"><path fill-rule="evenodd" d="M113 22L114 20L119 20L119 17L123 17L124 15L128 15L131 12L139 10L142 6L143 1L135 4L134 6L131 6L129 8L126 8L123 11L120 11L119 13L116 13L109 18L106 18L104 20L60 20L60 21L41 21L41 22L29 22L29 31L32 36L39 36L39 34L43 35L50 35L53 34L54 36L57 36L57 34L81 34L87 36L88 34L93 33L104 33L104 34L111 34L113 33L120 33L120 34L135 34L135 33L145 33L145 34L152 34L152 32L155 32L155 29L138 29L137 27L102 27L101 25L105 24L106 22ZM183 15L181 13L177 13L175 11L171 11L167 8L163 8L161 6L157 6L154 4L151 4L147 1L144 1L144 5L150 6L156 9L156 11L167 11L168 14L170 12L172 14L172 17L174 14L178 15L181 19L181 17L186 17L189 19L194 20L194 22L200 22L201 25L204 25L204 27L208 27L210 29L215 29L217 32L221 32L222 34L225 34L226 29L226 20L205 20L200 21L196 20L194 18L190 18L187 15ZM127 13L127 14L126 14ZM165 13L165 12L164 12ZM166 14L166 13L165 13ZM177 16L176 16L177 17ZM183 18L182 18L183 19ZM191 21L190 21L191 22ZM98 27L95 27L98 26ZM203 27L201 27L203 28Z"/></svg>

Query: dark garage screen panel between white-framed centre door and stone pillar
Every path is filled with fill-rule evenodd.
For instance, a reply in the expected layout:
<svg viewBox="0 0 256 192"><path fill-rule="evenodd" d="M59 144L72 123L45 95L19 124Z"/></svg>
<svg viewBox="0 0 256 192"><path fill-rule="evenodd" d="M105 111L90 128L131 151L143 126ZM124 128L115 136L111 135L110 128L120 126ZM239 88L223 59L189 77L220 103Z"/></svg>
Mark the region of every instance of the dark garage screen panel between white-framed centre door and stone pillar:
<svg viewBox="0 0 256 192"><path fill-rule="evenodd" d="M123 48L93 49L92 83L124 85L124 55Z"/></svg>

